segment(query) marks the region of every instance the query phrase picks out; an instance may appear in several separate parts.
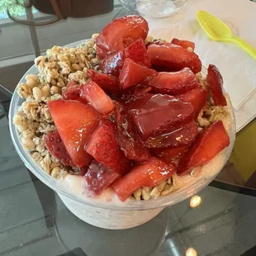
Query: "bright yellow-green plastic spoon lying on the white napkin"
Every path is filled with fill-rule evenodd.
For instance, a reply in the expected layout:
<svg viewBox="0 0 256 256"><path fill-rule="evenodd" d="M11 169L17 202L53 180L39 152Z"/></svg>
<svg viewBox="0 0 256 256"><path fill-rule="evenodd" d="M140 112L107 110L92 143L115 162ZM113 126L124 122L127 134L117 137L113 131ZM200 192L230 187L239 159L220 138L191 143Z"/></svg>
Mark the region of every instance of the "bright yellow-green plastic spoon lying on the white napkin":
<svg viewBox="0 0 256 256"><path fill-rule="evenodd" d="M256 59L256 49L238 36L232 36L230 28L209 12L198 11L197 21L212 40L234 43L239 45L250 56Z"/></svg>

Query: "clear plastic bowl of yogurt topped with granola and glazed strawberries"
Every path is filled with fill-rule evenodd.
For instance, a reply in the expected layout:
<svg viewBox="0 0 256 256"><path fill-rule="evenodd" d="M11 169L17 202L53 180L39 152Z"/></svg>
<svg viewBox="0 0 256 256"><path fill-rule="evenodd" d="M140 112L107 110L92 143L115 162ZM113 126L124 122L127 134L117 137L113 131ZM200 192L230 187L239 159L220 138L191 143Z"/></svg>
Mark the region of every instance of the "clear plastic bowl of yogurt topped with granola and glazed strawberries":
<svg viewBox="0 0 256 256"><path fill-rule="evenodd" d="M230 157L235 119L218 69L139 16L54 46L21 78L9 125L22 161L81 220L126 229L192 197ZM111 32L110 32L111 31Z"/></svg>

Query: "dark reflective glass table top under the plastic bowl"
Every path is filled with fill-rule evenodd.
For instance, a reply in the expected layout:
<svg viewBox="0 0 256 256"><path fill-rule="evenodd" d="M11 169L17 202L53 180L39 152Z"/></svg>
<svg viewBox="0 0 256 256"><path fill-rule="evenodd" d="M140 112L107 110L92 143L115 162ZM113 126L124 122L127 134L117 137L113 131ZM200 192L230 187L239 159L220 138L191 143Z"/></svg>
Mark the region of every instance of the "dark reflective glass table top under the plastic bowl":
<svg viewBox="0 0 256 256"><path fill-rule="evenodd" d="M99 26L126 14L115 7L110 16L101 17ZM51 28L37 31L44 35L47 29ZM74 38L81 40L98 29L85 29ZM56 44L74 41L65 40ZM48 40L44 43L52 45ZM21 162L8 129L11 97L12 92L0 86L0 256L256 255L255 120L237 134L230 160L216 180L197 194L200 205L191 207L188 199L144 225L102 230L73 216L58 195Z"/></svg>

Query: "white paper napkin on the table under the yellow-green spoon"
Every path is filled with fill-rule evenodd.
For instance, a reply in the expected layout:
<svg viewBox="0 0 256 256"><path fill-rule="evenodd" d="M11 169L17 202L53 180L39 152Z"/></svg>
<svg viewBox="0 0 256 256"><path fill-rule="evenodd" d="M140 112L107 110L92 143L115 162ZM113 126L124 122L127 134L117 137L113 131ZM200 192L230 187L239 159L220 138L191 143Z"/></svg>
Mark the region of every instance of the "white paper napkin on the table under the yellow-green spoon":
<svg viewBox="0 0 256 256"><path fill-rule="evenodd" d="M210 40L197 22L199 10L211 12L225 21L236 36L256 47L256 3L246 0L190 1L173 16L147 19L150 36L192 40L202 64L206 67L216 64L223 76L224 88L230 94L237 130L240 130L256 116L256 60L237 45Z"/></svg>

